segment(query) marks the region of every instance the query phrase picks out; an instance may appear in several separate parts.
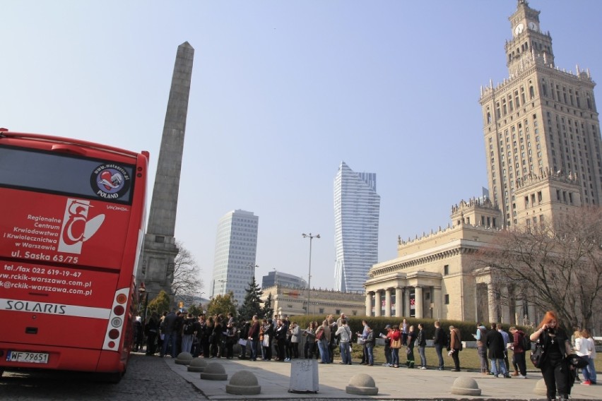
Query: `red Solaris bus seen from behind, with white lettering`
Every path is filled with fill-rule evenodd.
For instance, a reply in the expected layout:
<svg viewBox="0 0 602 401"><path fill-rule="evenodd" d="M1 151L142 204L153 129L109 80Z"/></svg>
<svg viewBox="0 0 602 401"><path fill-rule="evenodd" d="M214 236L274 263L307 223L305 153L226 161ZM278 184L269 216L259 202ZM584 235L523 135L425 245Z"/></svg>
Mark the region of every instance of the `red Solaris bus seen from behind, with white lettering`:
<svg viewBox="0 0 602 401"><path fill-rule="evenodd" d="M125 373L148 152L0 128L0 375Z"/></svg>

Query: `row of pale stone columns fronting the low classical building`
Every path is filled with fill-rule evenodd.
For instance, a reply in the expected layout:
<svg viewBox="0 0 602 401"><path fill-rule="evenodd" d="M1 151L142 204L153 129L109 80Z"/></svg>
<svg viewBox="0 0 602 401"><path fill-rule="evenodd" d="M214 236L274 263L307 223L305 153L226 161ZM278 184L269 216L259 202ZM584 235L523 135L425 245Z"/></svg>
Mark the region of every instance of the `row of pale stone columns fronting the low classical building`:
<svg viewBox="0 0 602 401"><path fill-rule="evenodd" d="M442 307L441 287L415 285L366 292L366 316L412 316L412 304L416 318L439 318Z"/></svg>

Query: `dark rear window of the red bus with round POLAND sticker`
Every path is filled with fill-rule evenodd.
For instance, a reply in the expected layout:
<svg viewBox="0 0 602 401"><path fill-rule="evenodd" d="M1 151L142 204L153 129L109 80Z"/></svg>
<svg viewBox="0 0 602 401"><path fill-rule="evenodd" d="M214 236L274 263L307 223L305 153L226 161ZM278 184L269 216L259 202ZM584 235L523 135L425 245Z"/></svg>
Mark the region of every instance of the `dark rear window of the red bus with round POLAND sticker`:
<svg viewBox="0 0 602 401"><path fill-rule="evenodd" d="M134 165L0 146L0 186L131 205Z"/></svg>

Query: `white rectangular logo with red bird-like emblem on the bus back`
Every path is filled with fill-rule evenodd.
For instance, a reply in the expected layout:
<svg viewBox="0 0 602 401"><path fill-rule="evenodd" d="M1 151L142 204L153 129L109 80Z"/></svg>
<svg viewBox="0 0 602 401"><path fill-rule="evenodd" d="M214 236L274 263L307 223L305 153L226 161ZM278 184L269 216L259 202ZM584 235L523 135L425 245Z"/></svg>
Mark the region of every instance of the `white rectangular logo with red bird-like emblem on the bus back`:
<svg viewBox="0 0 602 401"><path fill-rule="evenodd" d="M67 199L59 239L60 252L81 253L82 244L88 241L105 221L105 215L90 218L88 216L90 208L92 208L90 200Z"/></svg>

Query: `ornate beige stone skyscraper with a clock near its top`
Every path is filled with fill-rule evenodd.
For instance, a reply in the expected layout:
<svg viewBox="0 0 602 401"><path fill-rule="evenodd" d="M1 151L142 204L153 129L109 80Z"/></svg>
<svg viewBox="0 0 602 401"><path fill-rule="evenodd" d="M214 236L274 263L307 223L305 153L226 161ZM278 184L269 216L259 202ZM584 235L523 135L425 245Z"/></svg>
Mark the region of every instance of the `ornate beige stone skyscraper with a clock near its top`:
<svg viewBox="0 0 602 401"><path fill-rule="evenodd" d="M555 222L602 200L596 84L579 66L555 66L539 13L518 0L505 47L509 77L481 88L479 100L490 196L505 226Z"/></svg>

